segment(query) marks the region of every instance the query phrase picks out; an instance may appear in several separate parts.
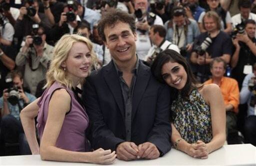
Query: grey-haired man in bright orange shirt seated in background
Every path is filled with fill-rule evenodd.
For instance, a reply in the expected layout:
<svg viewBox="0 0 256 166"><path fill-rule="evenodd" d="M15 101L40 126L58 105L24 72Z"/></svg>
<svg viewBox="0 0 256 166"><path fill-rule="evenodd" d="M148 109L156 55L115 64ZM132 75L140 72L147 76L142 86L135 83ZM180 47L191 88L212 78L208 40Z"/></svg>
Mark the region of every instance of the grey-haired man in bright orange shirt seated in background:
<svg viewBox="0 0 256 166"><path fill-rule="evenodd" d="M210 63L210 72L212 74L212 78L205 81L204 84L213 83L219 86L226 110L227 143L237 144L240 143L240 141L234 141L234 137L238 136L238 132L236 130L236 114L238 113L239 88L235 79L224 77L225 68L226 63L223 59L219 57L214 58Z"/></svg>

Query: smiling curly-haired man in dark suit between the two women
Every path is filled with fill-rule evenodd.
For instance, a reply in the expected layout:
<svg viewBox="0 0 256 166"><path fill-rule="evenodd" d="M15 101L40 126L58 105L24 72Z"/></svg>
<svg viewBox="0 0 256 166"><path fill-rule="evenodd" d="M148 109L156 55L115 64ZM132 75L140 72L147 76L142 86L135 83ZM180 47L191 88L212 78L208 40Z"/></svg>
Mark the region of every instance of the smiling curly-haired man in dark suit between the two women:
<svg viewBox="0 0 256 166"><path fill-rule="evenodd" d="M132 15L111 10L98 32L112 61L84 84L92 148L116 151L119 160L156 159L171 148L169 89L137 58Z"/></svg>

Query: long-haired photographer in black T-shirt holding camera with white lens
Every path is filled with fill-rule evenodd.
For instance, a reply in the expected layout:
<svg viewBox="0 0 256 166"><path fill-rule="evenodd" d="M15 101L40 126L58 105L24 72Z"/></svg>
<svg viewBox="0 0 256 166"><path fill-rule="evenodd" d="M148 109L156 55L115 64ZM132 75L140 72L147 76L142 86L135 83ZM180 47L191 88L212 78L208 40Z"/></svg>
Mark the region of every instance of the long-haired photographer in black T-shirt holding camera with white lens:
<svg viewBox="0 0 256 166"><path fill-rule="evenodd" d="M228 34L220 30L220 17L215 11L208 11L203 16L203 26L207 30L196 37L190 56L196 65L196 76L200 82L209 78L209 63L212 58L220 57L227 64L232 53L232 41Z"/></svg>

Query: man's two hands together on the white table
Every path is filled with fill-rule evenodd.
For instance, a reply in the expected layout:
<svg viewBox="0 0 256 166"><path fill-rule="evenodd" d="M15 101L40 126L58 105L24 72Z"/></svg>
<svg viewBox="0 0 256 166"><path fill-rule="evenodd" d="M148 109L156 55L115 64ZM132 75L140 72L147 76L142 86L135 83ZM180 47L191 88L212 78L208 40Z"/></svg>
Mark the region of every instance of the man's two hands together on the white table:
<svg viewBox="0 0 256 166"><path fill-rule="evenodd" d="M156 146L146 142L140 145L135 145L132 142L123 142L116 148L117 159L130 161L135 159L156 159L160 153Z"/></svg>

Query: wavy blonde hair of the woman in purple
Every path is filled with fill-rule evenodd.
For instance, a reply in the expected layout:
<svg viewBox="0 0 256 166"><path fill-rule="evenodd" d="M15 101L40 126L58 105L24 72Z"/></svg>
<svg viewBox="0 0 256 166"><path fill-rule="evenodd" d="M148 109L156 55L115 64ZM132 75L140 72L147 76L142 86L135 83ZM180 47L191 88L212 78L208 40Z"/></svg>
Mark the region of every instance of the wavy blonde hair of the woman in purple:
<svg viewBox="0 0 256 166"><path fill-rule="evenodd" d="M53 49L53 58L46 73L46 84L44 88L50 87L55 81L68 88L72 87L72 82L67 77L67 74L64 71L64 68L61 67L61 64L67 59L71 47L76 42L83 42L87 45L91 54L91 65L96 65L97 58L92 50L91 41L78 34L65 34L58 40ZM82 84L83 81L84 79L80 79L79 83Z"/></svg>

